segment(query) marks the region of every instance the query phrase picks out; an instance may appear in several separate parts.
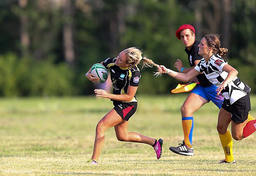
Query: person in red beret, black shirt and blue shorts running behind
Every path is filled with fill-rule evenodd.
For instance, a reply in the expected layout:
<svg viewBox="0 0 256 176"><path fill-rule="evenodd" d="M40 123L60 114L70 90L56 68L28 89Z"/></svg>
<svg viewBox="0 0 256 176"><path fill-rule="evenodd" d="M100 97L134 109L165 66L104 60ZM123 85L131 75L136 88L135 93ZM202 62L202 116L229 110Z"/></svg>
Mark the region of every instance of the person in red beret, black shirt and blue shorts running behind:
<svg viewBox="0 0 256 176"><path fill-rule="evenodd" d="M176 37L183 42L183 45L185 45L185 52L187 53L190 67L185 68L180 59L177 59L174 66L180 73L188 73L203 58L198 54L198 45L200 42L196 40L195 29L190 24L183 24L180 26L180 28L178 28L176 31ZM194 155L194 148L192 146L194 128L193 113L209 101L212 101L219 109L223 104L222 94L218 95L218 92L216 92L218 87L209 82L205 74L199 74L197 77L190 80L190 82L199 82L199 84L197 84L197 86L187 96L187 99L180 108L184 140L183 143L180 143L178 147L169 148L174 153L187 156ZM248 120L254 120L254 118L249 114Z"/></svg>

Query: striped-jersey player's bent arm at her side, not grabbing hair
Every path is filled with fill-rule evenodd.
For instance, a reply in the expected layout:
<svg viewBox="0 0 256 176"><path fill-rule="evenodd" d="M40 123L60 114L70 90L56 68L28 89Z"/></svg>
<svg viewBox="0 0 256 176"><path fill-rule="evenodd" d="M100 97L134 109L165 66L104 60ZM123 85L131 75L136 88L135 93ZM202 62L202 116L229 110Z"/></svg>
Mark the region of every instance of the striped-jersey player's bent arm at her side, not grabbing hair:
<svg viewBox="0 0 256 176"><path fill-rule="evenodd" d="M222 70L225 72L228 72L228 76L222 82L222 84L218 87L218 89L216 89L216 91L218 91L217 95L220 94L220 92L223 89L225 89L225 87L228 85L228 83L230 83L232 80L234 80L234 78L238 74L238 71L230 65L225 65Z"/></svg>

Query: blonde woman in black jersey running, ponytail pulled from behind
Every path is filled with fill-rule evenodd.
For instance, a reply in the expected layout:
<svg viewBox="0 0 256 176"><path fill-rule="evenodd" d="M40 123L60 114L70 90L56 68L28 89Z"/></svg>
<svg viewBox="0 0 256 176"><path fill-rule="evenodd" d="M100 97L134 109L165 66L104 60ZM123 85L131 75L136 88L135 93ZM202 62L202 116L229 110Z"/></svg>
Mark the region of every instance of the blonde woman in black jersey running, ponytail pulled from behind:
<svg viewBox="0 0 256 176"><path fill-rule="evenodd" d="M136 112L137 99L136 92L140 82L140 70L137 64L143 62L143 66L158 66L152 60L142 57L142 52L131 47L123 50L116 58L108 58L101 62L110 70L111 82L113 83L113 94L105 90L95 89L96 96L108 98L113 101L114 108L105 115L96 126L96 136L92 157L87 162L98 164L98 159L104 144L104 133L107 129L114 127L116 138L119 141L146 143L152 145L159 160L162 153L163 140L143 136L136 132L128 132L128 120ZM86 73L88 80L99 81L90 73Z"/></svg>

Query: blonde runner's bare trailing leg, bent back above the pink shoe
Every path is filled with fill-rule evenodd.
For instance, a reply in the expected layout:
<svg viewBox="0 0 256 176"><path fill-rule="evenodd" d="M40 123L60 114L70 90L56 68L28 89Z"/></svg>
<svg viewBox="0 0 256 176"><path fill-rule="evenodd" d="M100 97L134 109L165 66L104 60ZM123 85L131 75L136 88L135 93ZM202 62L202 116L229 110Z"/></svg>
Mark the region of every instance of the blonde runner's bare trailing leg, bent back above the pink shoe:
<svg viewBox="0 0 256 176"><path fill-rule="evenodd" d="M121 123L114 127L116 131L116 138L119 141L147 143L149 145L154 145L156 139L143 136L135 132L128 132L128 124L128 121L123 120Z"/></svg>

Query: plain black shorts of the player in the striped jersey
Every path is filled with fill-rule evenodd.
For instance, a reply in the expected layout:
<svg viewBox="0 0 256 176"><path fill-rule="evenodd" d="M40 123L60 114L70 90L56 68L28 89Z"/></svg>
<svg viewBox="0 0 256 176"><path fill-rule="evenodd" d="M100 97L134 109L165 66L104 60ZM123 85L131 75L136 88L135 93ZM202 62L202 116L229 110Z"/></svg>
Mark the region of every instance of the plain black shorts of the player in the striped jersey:
<svg viewBox="0 0 256 176"><path fill-rule="evenodd" d="M227 106L224 99L221 107L231 113L231 120L233 122L242 123L247 120L249 111L251 110L250 96L247 94L230 106Z"/></svg>

